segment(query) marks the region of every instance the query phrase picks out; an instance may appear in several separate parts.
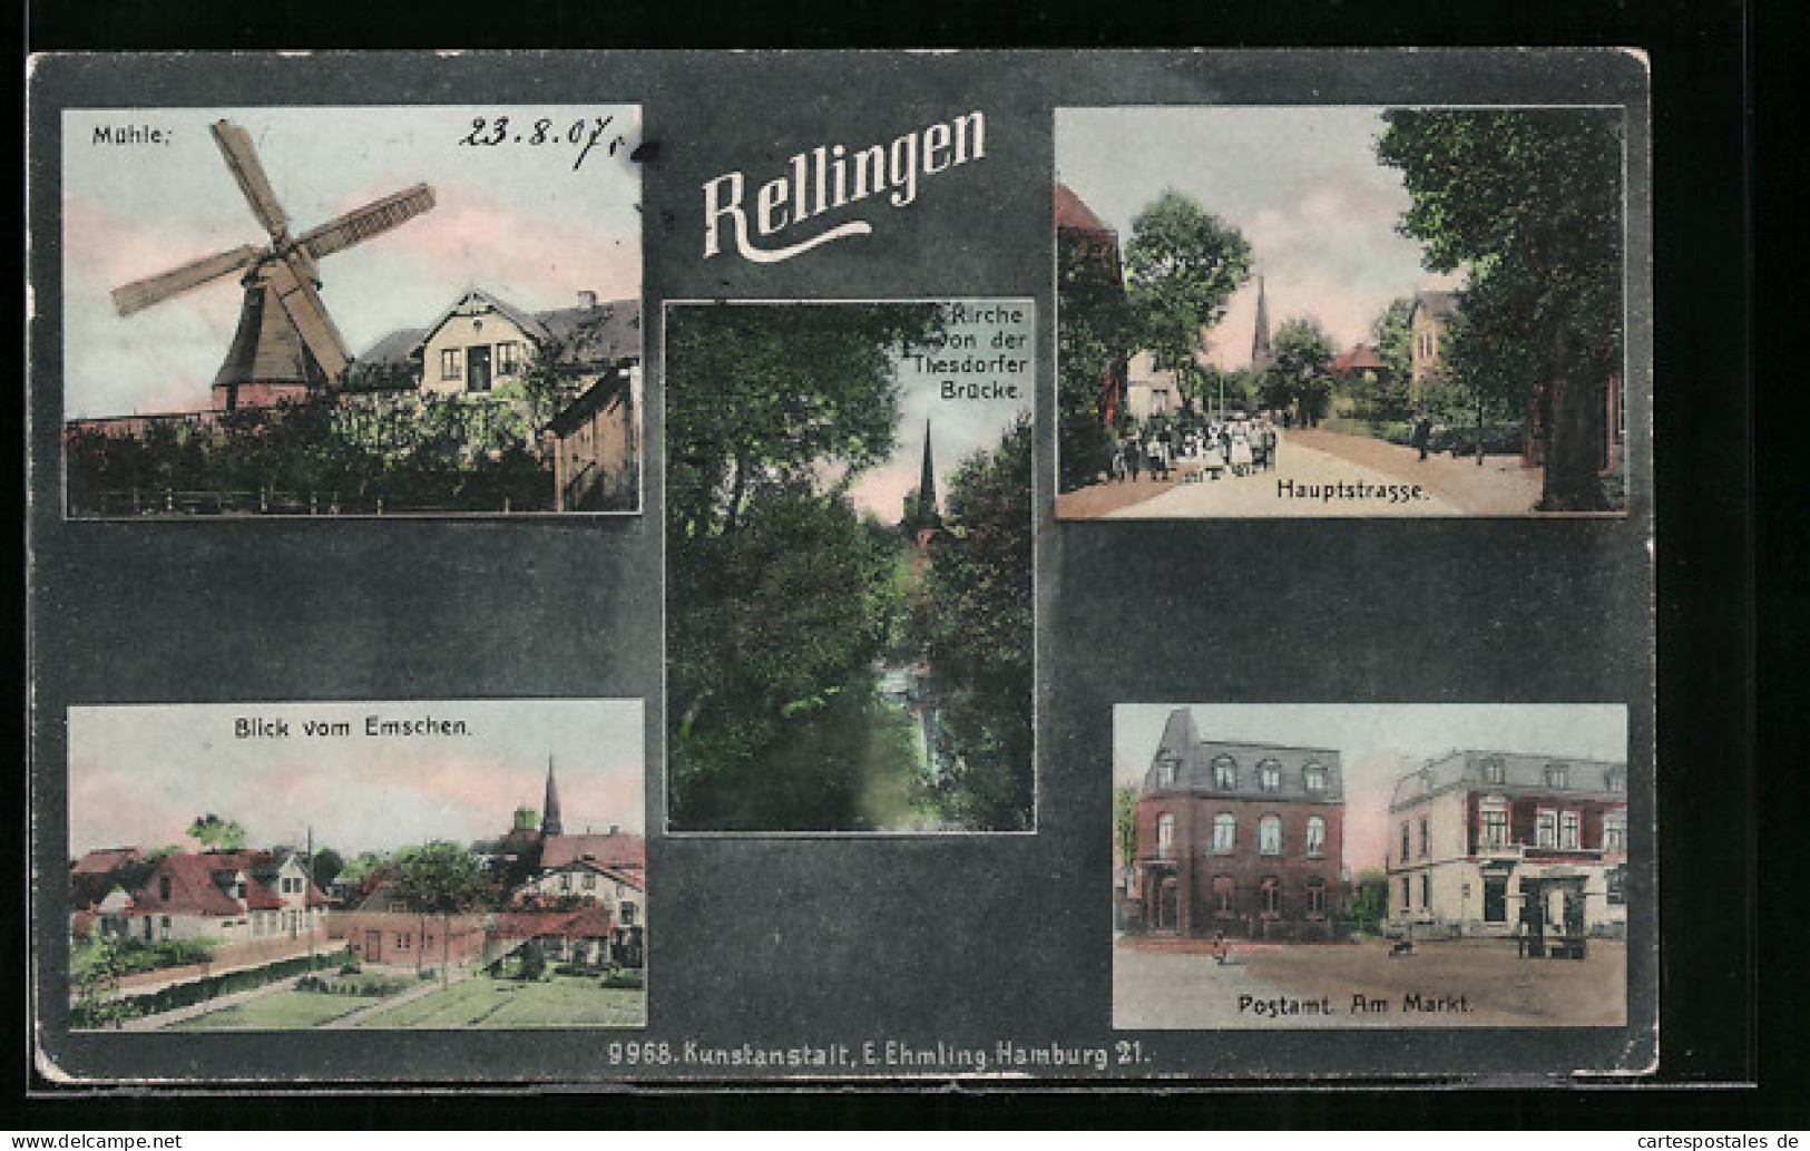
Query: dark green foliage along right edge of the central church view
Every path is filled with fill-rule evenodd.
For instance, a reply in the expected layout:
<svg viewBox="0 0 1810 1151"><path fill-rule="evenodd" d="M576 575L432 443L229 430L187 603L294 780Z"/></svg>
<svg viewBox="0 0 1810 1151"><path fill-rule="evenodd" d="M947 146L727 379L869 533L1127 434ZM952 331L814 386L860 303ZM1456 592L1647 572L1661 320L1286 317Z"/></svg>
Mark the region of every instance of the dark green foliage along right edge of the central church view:
<svg viewBox="0 0 1810 1151"><path fill-rule="evenodd" d="M941 713L943 809L965 827L1032 823L1032 425L956 471L930 545L927 655Z"/></svg>

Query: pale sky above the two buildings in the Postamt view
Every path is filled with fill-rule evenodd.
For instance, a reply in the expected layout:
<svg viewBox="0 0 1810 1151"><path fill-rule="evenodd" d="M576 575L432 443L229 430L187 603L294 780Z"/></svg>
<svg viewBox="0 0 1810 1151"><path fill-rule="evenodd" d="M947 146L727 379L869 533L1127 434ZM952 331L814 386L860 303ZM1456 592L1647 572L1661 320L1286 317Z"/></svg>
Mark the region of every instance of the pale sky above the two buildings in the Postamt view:
<svg viewBox="0 0 1810 1151"><path fill-rule="evenodd" d="M1113 784L1137 785L1175 704L1113 708ZM1620 704L1195 704L1200 738L1332 747L1345 769L1345 865L1381 867L1396 780L1453 749L1627 760Z"/></svg>

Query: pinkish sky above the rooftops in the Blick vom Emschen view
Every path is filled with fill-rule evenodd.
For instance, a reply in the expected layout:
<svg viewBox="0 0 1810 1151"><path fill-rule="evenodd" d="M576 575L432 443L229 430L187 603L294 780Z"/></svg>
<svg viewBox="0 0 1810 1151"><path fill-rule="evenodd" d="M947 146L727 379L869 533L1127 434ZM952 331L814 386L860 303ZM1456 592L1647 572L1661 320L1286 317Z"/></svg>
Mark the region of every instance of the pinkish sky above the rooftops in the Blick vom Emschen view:
<svg viewBox="0 0 1810 1151"><path fill-rule="evenodd" d="M366 737L366 717L463 718L465 737ZM288 738L235 738L241 717L281 718ZM310 738L304 720L353 735ZM509 831L539 811L554 756L568 832L641 832L641 700L195 704L71 708L69 851L161 847L190 820L237 820L248 845L315 843L342 854Z"/></svg>

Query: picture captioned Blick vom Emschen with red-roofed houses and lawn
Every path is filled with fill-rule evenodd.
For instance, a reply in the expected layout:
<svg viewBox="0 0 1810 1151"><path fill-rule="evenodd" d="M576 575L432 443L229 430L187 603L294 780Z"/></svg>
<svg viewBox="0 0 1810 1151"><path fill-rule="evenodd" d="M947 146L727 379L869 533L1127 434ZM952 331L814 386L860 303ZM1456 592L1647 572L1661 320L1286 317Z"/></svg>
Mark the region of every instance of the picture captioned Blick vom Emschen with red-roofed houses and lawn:
<svg viewBox="0 0 1810 1151"><path fill-rule="evenodd" d="M641 742L639 700L72 708L69 1026L643 1026Z"/></svg>

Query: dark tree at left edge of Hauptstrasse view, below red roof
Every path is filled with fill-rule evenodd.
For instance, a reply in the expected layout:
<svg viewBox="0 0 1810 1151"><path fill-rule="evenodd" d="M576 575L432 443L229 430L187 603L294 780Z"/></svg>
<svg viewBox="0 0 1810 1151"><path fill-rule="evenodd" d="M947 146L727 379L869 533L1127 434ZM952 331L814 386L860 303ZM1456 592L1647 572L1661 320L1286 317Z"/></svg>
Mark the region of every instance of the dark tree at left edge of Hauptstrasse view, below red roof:
<svg viewBox="0 0 1810 1151"><path fill-rule="evenodd" d="M1129 420L1122 391L1138 326L1110 252L1064 233L1055 259L1057 456L1070 492L1111 471L1110 429Z"/></svg>

